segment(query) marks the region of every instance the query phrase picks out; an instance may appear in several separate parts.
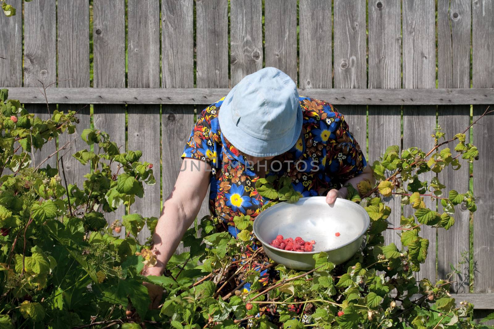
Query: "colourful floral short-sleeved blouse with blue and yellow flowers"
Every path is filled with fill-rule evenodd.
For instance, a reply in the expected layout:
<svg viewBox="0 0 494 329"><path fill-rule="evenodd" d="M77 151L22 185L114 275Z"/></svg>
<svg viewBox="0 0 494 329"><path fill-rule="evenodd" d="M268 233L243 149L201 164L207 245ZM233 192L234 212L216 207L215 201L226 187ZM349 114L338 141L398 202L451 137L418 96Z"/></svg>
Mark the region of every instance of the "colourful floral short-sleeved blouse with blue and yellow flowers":
<svg viewBox="0 0 494 329"><path fill-rule="evenodd" d="M259 177L221 133L218 112L223 99L198 115L182 158L199 159L211 165L210 211L214 217L223 219L229 231L236 235L233 218L244 214L255 219L269 199L257 192L255 182ZM271 168L276 167L276 171L268 170L266 176L276 175L276 179L288 176L301 196L326 195L331 188L340 188L360 174L367 162L343 115L332 105L306 97L300 97L300 105L303 111L300 137L290 150L273 158ZM283 168L278 169L282 166L275 166L275 160L285 164Z"/></svg>

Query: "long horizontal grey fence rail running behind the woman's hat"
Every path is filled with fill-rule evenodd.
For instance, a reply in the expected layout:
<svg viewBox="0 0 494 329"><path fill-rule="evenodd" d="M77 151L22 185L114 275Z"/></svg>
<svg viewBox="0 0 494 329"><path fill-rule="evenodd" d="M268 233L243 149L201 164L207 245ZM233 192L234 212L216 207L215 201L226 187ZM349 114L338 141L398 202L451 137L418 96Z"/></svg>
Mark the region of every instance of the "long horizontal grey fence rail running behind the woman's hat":
<svg viewBox="0 0 494 329"><path fill-rule="evenodd" d="M300 96L334 105L461 105L492 104L494 88L458 89L298 89ZM3 86L0 86L3 88ZM408 87L410 88L410 87ZM12 87L9 97L21 103L44 104L39 88ZM228 88L51 88L50 104L211 104Z"/></svg>

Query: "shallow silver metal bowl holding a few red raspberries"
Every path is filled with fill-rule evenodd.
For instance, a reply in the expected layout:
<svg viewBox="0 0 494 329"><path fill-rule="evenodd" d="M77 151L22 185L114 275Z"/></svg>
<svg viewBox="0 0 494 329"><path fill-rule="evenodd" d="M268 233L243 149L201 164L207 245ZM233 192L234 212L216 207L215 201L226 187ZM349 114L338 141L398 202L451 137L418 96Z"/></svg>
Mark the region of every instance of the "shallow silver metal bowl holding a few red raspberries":
<svg viewBox="0 0 494 329"><path fill-rule="evenodd" d="M267 208L255 218L253 231L266 255L275 262L310 270L315 267L312 256L320 252L328 253L336 265L350 259L363 244L369 225L369 215L355 202L337 198L329 205L326 197L312 196ZM285 251L269 245L278 234L316 243L312 252Z"/></svg>

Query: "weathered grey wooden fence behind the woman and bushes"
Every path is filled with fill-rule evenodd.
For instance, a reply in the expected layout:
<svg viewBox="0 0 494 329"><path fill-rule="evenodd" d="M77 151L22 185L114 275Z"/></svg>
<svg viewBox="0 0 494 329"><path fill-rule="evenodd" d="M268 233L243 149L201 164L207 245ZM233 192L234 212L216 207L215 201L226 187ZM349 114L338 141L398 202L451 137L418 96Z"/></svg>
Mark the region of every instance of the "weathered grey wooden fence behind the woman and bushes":
<svg viewBox="0 0 494 329"><path fill-rule="evenodd" d="M475 119L494 104L491 0L10 2L19 9L0 18L0 86L41 116L47 113L40 81L58 81L47 88L47 98L59 109L92 104L94 113L83 108L79 126L92 122L118 145L143 150L147 161L161 160L163 170L155 173L163 197L179 172L195 111L264 66L291 76L300 95L334 104L364 149L368 142L370 162L389 145L430 149L428 136L437 124L452 137L472 119L470 105ZM468 294L468 259L453 284L459 299L479 309L494 308L493 121L489 115L473 127L480 151L473 167L475 293ZM76 141L73 147L84 146ZM47 146L36 159L52 151ZM74 159L66 168L75 182L88 170ZM466 191L468 165L439 179ZM160 184L145 189L133 211L158 216ZM400 200L387 202L397 226ZM436 207L435 201L426 204ZM421 277L444 278L468 253L470 213L456 211L449 231L424 229L430 245ZM203 204L200 215L206 212ZM386 240L399 242L394 232Z"/></svg>

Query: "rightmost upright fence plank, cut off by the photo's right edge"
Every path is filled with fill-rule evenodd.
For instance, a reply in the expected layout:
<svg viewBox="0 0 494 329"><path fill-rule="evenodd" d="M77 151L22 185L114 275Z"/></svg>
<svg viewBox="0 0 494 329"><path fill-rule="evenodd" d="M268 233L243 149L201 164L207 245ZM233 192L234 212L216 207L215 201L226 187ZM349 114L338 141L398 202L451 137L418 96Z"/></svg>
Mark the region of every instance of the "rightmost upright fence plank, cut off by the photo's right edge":
<svg viewBox="0 0 494 329"><path fill-rule="evenodd" d="M492 1L473 0L473 87L494 87L494 4ZM494 102L493 102L494 104ZM478 118L487 106L474 106L473 118ZM491 109L494 107L491 105ZM479 148L479 161L473 165L473 194L477 198L477 211L473 220L474 292L493 292L494 205L491 201L494 181L492 173L492 146L494 145L494 115L489 114L481 124L473 127L473 140ZM476 312L483 318L490 312ZM491 321L490 324L494 324Z"/></svg>

